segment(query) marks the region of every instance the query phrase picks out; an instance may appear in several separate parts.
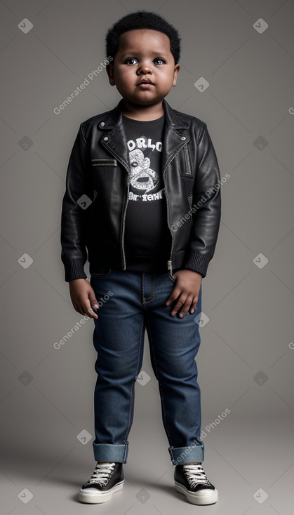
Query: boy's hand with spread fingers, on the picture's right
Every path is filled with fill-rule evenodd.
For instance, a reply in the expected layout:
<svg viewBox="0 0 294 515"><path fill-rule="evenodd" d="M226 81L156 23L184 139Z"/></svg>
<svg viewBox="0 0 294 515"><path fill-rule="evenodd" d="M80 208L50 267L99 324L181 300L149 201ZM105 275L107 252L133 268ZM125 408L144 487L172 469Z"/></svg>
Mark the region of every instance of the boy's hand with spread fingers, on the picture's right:
<svg viewBox="0 0 294 515"><path fill-rule="evenodd" d="M182 319L185 314L190 310L190 313L194 313L197 307L199 290L202 281L202 275L194 270L178 270L173 274L175 277L175 288L171 295L166 301L166 305L169 306L172 302L178 299L171 311L171 316L175 316L180 309L180 318Z"/></svg>

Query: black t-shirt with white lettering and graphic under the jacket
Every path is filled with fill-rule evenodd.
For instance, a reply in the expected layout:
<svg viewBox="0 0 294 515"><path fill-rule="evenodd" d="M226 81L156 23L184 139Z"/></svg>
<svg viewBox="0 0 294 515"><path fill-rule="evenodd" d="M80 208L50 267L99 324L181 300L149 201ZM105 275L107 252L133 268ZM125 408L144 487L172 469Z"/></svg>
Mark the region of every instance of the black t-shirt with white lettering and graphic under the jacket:
<svg viewBox="0 0 294 515"><path fill-rule="evenodd" d="M123 116L131 184L126 210L126 269L166 272L171 255L161 148L164 115L152 121Z"/></svg>

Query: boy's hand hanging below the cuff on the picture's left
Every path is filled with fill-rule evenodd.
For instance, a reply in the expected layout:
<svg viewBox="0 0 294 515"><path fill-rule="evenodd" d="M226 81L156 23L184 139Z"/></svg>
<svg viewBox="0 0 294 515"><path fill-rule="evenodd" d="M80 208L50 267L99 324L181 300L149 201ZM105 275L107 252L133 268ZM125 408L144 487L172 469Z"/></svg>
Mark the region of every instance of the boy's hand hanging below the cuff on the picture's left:
<svg viewBox="0 0 294 515"><path fill-rule="evenodd" d="M69 281L69 292L72 299L74 309L81 313L90 316L91 319L98 319L92 307L99 309L94 290L86 279L74 279Z"/></svg>

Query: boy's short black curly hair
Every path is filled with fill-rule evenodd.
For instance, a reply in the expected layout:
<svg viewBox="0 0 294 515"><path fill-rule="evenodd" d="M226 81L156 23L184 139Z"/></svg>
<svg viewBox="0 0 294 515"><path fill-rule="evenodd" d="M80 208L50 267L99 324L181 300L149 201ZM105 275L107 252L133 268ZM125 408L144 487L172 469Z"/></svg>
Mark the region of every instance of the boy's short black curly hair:
<svg viewBox="0 0 294 515"><path fill-rule="evenodd" d="M175 59L175 65L178 64L180 60L180 36L178 31L164 18L151 11L136 11L135 13L128 14L110 27L106 34L107 58L112 57L114 59L119 50L119 36L124 32L128 32L128 30L135 29L153 29L166 34L171 42L171 53Z"/></svg>

